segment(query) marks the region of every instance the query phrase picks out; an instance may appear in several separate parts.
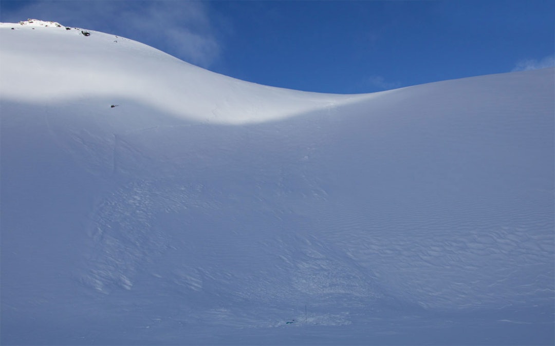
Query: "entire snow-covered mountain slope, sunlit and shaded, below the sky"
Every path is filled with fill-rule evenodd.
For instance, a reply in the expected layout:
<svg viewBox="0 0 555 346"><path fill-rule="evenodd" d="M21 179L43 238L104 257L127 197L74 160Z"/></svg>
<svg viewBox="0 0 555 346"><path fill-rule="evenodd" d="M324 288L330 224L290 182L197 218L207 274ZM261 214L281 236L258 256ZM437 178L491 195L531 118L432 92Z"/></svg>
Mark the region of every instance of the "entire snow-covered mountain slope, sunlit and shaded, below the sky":
<svg viewBox="0 0 555 346"><path fill-rule="evenodd" d="M554 69L317 94L45 23L0 24L2 344L555 343Z"/></svg>

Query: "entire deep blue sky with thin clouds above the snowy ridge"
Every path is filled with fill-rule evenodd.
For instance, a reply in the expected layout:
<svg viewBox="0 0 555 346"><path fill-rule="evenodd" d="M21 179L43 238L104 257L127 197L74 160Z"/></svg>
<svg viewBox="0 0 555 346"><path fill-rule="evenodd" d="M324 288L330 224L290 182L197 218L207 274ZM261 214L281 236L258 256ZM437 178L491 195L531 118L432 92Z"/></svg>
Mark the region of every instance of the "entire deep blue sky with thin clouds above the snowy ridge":
<svg viewBox="0 0 555 346"><path fill-rule="evenodd" d="M553 66L555 2L0 1L27 18L121 35L214 72L367 93Z"/></svg>

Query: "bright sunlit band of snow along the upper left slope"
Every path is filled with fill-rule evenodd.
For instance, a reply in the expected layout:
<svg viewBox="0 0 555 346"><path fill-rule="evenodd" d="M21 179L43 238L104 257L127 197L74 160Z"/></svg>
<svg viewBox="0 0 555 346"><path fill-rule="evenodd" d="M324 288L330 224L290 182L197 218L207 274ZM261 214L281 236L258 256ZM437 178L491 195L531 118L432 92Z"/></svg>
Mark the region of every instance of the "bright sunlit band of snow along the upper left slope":
<svg viewBox="0 0 555 346"><path fill-rule="evenodd" d="M42 26L42 22L34 24ZM0 29L9 30L9 25L3 23ZM240 125L330 110L374 97L266 87L209 72L133 40L88 32L90 37L53 35L49 30L3 32L2 66L6 68L2 73L15 82L2 87L3 98L53 104L98 99L119 108L139 101L179 119ZM36 64L36 58L19 44L22 39L41 51L41 69L33 70L32 76L20 68ZM69 52L73 59L58 59ZM89 74L89 69L95 74ZM29 78L36 83L23 82ZM57 83L41 89L52 80ZM154 92L159 95L156 99L149 97Z"/></svg>

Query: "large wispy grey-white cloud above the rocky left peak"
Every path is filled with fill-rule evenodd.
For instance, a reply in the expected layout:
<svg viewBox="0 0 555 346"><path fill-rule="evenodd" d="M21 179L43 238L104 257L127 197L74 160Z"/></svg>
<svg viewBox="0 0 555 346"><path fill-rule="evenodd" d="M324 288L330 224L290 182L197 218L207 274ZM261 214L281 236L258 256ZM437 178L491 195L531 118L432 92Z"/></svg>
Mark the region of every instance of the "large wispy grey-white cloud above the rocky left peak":
<svg viewBox="0 0 555 346"><path fill-rule="evenodd" d="M202 67L221 53L209 7L203 2L37 1L3 12L3 22L36 18L113 33Z"/></svg>

